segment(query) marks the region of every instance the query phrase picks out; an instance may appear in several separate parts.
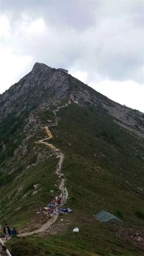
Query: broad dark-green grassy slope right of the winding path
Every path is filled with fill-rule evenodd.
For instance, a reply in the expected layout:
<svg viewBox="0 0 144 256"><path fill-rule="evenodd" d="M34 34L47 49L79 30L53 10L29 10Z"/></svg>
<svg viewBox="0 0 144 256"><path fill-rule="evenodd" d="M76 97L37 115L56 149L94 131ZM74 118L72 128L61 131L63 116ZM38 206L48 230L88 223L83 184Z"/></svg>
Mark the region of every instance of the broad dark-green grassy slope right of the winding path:
<svg viewBox="0 0 144 256"><path fill-rule="evenodd" d="M117 126L112 117L101 109L87 110L72 104L61 109L58 116L61 121L57 127L51 128L54 135L51 143L65 153L63 172L67 177L70 197L67 205L74 210L70 215L73 224L60 237L50 236L48 240L32 237L26 238L27 241L39 241L43 248L49 248L47 253L40 249L40 255L142 255L142 248L133 244L132 240L125 241L125 237L115 236L110 225L100 223L92 216L102 209L113 214L120 210L126 227L141 230L142 220L135 215L137 209L142 209L142 191L137 189L142 187L142 161L134 155L134 147L142 152L137 139ZM101 135L101 132L107 134ZM110 139L111 135L114 138ZM46 180L54 184L54 159L51 164L53 168L50 168ZM43 162L36 167L37 177L41 175L42 166L44 175L48 175L46 165L47 162ZM33 175L33 171L30 172L33 178L40 179ZM41 192L43 194L39 193L39 197L35 195L36 205L40 204L43 196L44 201L46 197L50 198L50 193L46 194L51 188L49 184ZM27 216L25 214L25 218ZM71 230L75 226L79 227L82 240L73 237Z"/></svg>

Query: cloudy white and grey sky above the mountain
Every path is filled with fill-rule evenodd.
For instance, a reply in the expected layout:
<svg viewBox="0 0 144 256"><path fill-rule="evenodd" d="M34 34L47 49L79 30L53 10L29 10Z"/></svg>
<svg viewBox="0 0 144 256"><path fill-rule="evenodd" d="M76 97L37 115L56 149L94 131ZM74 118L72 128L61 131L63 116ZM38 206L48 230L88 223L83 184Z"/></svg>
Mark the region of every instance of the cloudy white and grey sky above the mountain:
<svg viewBox="0 0 144 256"><path fill-rule="evenodd" d="M1 1L0 93L35 62L144 112L143 1Z"/></svg>

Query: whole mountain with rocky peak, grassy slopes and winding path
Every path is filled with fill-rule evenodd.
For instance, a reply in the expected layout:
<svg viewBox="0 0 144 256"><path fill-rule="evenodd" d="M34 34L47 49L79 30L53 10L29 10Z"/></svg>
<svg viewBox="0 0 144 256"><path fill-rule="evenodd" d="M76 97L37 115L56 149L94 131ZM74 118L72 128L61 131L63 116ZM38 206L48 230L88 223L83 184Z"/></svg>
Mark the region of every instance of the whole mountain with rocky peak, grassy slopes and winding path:
<svg viewBox="0 0 144 256"><path fill-rule="evenodd" d="M143 171L144 114L67 70L36 63L0 95L0 224L18 232L12 256L143 255Z"/></svg>

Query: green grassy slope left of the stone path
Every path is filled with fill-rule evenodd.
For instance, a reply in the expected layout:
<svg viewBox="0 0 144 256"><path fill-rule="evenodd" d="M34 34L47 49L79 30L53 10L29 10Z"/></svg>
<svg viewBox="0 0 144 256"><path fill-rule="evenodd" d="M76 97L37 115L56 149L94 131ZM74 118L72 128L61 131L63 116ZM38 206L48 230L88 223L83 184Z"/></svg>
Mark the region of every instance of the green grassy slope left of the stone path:
<svg viewBox="0 0 144 256"><path fill-rule="evenodd" d="M49 160L29 168L21 176L1 189L1 198L3 198L0 208L2 224L9 222L11 226L24 227L24 225L33 220L33 213L52 199L50 190L52 189L57 193L54 185L57 184L56 164L56 158L51 157ZM32 195L33 191L36 190L33 187L35 184L39 184L38 189L41 190ZM20 186L23 186L23 189L18 192ZM27 196L22 198L25 194Z"/></svg>

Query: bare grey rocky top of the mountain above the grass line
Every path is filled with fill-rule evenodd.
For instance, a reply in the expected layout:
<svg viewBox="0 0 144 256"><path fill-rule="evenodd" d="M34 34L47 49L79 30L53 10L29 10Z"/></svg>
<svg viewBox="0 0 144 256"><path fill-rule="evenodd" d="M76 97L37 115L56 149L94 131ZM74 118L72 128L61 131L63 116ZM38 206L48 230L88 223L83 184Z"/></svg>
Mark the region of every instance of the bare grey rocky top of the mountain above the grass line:
<svg viewBox="0 0 144 256"><path fill-rule="evenodd" d="M51 68L45 64L36 62L32 71L24 76L20 81L12 85L9 90L0 95L0 117L6 116L16 110L16 115L20 115L20 110L33 108L46 109L51 104L57 105L62 99L71 98L78 100L80 104L86 102L96 106L104 107L109 114L115 117L128 127L138 125L139 131L144 131L143 113L135 111L111 101L107 97L84 85L70 74ZM19 110L19 111L18 111ZM29 117L29 123L34 123L33 115Z"/></svg>

